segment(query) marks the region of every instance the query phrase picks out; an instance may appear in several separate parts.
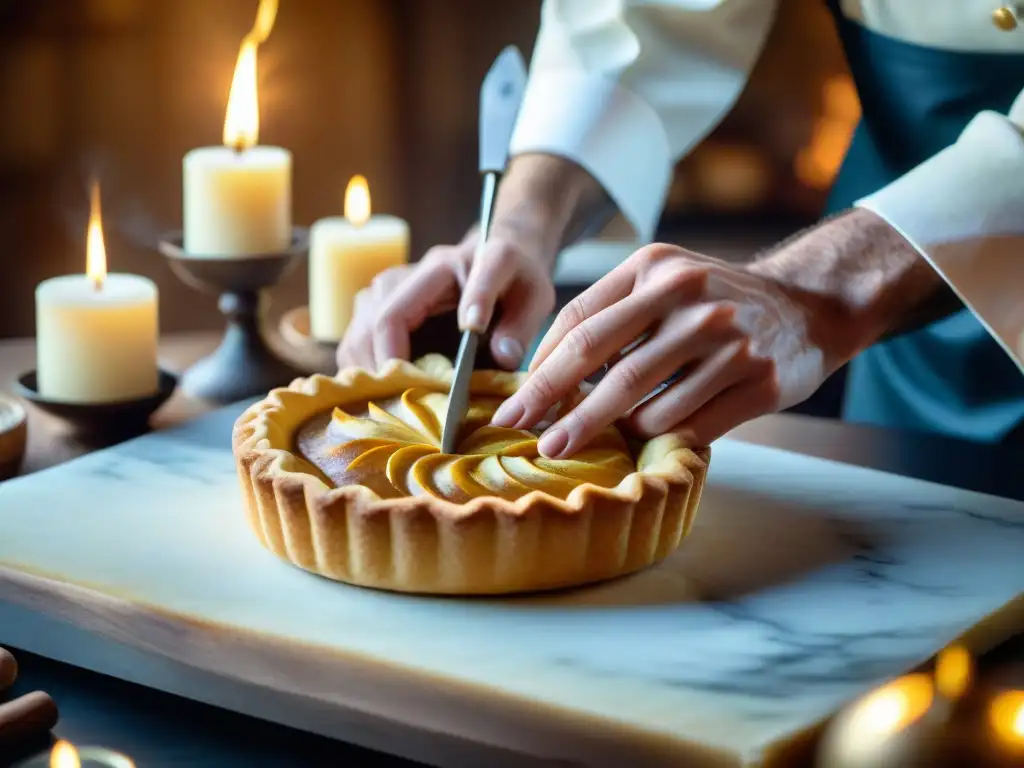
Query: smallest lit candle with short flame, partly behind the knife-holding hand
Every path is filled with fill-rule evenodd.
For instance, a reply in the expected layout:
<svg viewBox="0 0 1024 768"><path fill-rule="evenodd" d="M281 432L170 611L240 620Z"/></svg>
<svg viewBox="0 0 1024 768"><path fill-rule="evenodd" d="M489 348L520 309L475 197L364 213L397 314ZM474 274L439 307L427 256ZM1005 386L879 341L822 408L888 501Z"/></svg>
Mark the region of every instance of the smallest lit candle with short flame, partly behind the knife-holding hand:
<svg viewBox="0 0 1024 768"><path fill-rule="evenodd" d="M345 190L344 216L309 228L309 327L319 341L340 341L352 319L355 294L388 267L409 260L409 224L396 216L372 216L370 187L353 176Z"/></svg>

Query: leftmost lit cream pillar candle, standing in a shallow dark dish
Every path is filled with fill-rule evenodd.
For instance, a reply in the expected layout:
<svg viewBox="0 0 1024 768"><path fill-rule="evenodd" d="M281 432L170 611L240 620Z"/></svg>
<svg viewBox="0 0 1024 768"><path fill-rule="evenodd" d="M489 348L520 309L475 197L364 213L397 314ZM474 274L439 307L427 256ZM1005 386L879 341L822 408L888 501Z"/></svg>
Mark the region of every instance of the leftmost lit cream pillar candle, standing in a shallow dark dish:
<svg viewBox="0 0 1024 768"><path fill-rule="evenodd" d="M108 274L93 184L86 273L36 288L36 386L48 399L111 402L159 387L157 286L135 274Z"/></svg>

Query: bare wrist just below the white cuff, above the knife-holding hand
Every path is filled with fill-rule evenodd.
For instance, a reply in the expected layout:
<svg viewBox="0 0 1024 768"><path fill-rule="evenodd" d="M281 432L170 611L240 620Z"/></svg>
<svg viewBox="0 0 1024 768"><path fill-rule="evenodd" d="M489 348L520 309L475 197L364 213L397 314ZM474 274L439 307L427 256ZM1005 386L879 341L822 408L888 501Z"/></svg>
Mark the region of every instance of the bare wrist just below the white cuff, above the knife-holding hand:
<svg viewBox="0 0 1024 768"><path fill-rule="evenodd" d="M490 231L554 268L558 253L599 217L607 196L582 167L553 155L513 158L498 188Z"/></svg>

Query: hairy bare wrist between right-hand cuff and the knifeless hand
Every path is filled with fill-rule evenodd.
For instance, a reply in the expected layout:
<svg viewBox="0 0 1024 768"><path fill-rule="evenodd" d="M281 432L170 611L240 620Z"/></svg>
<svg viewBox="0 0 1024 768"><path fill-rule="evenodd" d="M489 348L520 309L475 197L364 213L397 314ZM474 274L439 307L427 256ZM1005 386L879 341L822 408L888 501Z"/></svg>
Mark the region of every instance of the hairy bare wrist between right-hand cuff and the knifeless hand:
<svg viewBox="0 0 1024 768"><path fill-rule="evenodd" d="M825 221L748 268L805 305L836 368L901 329L943 287L916 249L865 209Z"/></svg>

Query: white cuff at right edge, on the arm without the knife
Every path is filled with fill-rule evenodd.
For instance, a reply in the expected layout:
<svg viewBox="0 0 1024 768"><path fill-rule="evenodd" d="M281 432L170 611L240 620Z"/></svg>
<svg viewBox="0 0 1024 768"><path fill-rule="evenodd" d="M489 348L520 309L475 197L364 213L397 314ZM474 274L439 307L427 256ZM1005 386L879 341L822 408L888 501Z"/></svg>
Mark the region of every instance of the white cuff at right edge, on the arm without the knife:
<svg viewBox="0 0 1024 768"><path fill-rule="evenodd" d="M1024 371L1024 91L855 205L910 241Z"/></svg>

